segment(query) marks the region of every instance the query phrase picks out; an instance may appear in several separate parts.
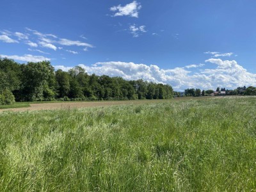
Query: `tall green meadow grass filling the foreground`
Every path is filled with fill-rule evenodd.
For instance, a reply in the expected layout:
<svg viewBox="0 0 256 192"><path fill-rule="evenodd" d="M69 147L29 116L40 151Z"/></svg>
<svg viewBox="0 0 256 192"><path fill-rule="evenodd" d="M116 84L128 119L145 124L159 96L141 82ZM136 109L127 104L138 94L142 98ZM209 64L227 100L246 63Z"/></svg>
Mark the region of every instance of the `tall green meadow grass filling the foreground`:
<svg viewBox="0 0 256 192"><path fill-rule="evenodd" d="M0 113L0 191L256 191L256 97Z"/></svg>

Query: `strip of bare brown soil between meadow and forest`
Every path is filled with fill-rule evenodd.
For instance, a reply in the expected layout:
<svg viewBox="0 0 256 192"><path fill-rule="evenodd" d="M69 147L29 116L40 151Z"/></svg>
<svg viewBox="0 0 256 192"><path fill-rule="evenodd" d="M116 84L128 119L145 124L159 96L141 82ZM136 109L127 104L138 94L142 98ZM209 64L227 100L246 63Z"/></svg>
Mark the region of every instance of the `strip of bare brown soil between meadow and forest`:
<svg viewBox="0 0 256 192"><path fill-rule="evenodd" d="M123 104L146 104L156 102L166 102L167 100L115 100L115 101L88 101L88 102L51 102L30 104L29 108L0 109L2 111L39 111L52 109L71 109L71 108L92 108L98 106L116 106Z"/></svg>

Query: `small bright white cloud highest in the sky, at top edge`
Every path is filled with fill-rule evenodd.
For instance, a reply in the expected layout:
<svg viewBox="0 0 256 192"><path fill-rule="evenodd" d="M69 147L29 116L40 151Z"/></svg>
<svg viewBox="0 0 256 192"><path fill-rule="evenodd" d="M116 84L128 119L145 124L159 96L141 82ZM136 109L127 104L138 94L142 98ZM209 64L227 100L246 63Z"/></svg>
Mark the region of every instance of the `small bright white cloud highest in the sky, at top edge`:
<svg viewBox="0 0 256 192"><path fill-rule="evenodd" d="M126 4L125 6L112 6L110 10L112 12L116 12L113 16L130 16L130 17L137 17L139 15L139 10L141 9L140 3L137 1L133 1L132 3Z"/></svg>

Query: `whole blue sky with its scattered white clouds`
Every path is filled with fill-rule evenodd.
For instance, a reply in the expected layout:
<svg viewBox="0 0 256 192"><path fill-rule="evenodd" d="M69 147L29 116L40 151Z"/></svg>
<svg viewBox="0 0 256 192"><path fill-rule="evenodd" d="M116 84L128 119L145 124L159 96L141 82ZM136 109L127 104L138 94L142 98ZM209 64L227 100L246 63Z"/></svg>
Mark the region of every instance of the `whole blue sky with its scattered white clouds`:
<svg viewBox="0 0 256 192"><path fill-rule="evenodd" d="M168 83L256 86L256 1L2 0L0 56Z"/></svg>

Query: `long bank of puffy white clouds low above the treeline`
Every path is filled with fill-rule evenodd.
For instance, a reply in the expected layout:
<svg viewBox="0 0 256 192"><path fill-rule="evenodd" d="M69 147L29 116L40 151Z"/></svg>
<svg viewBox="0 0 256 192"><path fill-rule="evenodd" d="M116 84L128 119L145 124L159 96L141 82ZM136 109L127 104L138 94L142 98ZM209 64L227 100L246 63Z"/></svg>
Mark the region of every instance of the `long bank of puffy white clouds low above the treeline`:
<svg viewBox="0 0 256 192"><path fill-rule="evenodd" d="M205 60L205 64L200 63L171 69L159 68L157 65L121 61L99 62L90 66L80 64L79 66L83 67L89 74L120 76L127 80L144 79L155 83L170 84L177 91L184 91L186 88L216 89L218 86L234 89L237 86L256 85L256 74L247 72L234 60L211 58ZM71 68L62 65L54 67L66 71ZM195 71L189 70L190 68Z"/></svg>

